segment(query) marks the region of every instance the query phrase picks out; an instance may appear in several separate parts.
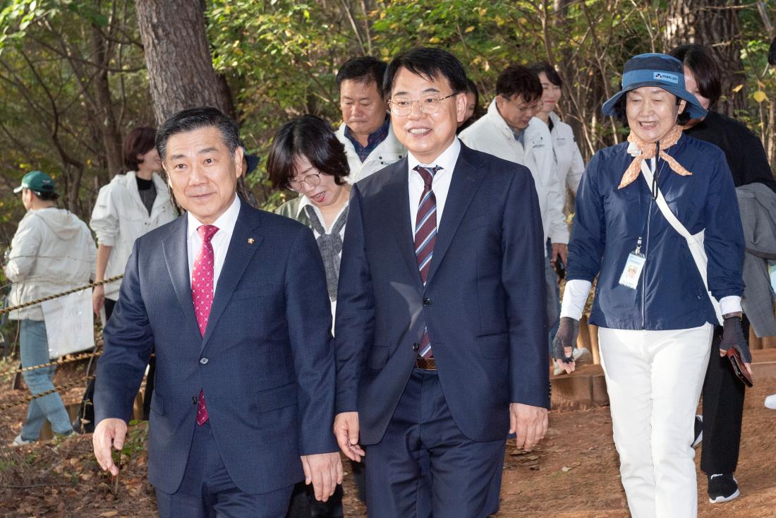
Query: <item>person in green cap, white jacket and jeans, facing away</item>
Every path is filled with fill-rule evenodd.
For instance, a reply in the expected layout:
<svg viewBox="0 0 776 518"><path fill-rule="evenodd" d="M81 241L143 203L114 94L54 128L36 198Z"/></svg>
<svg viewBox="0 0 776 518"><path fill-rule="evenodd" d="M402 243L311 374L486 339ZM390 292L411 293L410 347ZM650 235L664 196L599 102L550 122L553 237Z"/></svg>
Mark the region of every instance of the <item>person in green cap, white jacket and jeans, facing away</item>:
<svg viewBox="0 0 776 518"><path fill-rule="evenodd" d="M95 267L95 242L83 221L54 207L54 180L45 172L28 172L14 192L22 193L27 214L19 221L5 265L5 276L13 283L9 304L24 304L88 283ZM48 363L46 322L40 305L13 311L9 318L19 320L22 367ZM53 390L56 370L50 366L24 372L29 391L38 395ZM47 419L54 433L72 433L68 411L57 392L29 403L26 421L13 445L37 440Z"/></svg>

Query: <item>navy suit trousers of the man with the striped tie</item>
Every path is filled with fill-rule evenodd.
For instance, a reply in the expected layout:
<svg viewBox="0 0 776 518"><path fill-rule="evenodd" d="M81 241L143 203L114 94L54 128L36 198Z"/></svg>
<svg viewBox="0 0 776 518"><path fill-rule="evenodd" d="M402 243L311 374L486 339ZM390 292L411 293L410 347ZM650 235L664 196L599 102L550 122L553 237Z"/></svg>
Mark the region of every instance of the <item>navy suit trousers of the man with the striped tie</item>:
<svg viewBox="0 0 776 518"><path fill-rule="evenodd" d="M369 518L496 513L505 446L506 440L479 443L464 436L436 371L414 369L385 436L365 447Z"/></svg>

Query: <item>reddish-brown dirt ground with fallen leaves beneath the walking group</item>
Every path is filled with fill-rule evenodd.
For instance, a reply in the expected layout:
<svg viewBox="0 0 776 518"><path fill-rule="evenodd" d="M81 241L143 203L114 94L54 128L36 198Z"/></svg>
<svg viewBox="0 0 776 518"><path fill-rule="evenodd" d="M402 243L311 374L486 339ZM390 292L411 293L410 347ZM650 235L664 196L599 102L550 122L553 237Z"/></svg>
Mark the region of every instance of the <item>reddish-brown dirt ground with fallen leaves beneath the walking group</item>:
<svg viewBox="0 0 776 518"><path fill-rule="evenodd" d="M61 377L61 379L60 379ZM57 384L77 373L57 375ZM0 402L21 398L2 380ZM698 480L701 518L765 518L776 516L776 411L763 406L776 392L776 380L758 381L747 392L741 458L736 472L742 495L712 506L706 498L705 476ZM81 389L65 395L80 398ZM0 415L0 516L155 516L153 490L145 479L146 427L133 427L116 484L99 472L91 452L91 436L77 436L31 447L5 447L16 436L24 407ZM696 461L699 461L699 455ZM346 516L366 516L364 506L345 486ZM539 450L516 454L508 448L498 518L627 518L619 482L617 455L611 442L608 408L553 412L548 437Z"/></svg>

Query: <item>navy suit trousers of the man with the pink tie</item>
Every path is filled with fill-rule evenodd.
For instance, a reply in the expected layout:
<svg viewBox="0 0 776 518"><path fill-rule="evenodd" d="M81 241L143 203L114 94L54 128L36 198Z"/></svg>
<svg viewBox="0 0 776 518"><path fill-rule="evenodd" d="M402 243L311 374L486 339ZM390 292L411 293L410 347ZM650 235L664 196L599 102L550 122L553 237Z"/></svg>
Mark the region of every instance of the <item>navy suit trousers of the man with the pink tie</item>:
<svg viewBox="0 0 776 518"><path fill-rule="evenodd" d="M183 481L175 493L156 490L160 518L283 518L293 485L252 495L242 492L223 465L210 423L196 426Z"/></svg>

